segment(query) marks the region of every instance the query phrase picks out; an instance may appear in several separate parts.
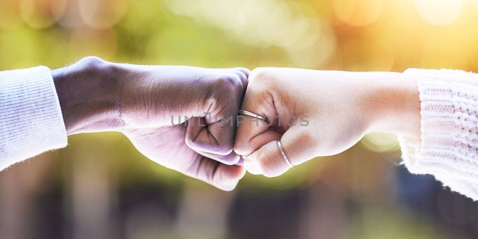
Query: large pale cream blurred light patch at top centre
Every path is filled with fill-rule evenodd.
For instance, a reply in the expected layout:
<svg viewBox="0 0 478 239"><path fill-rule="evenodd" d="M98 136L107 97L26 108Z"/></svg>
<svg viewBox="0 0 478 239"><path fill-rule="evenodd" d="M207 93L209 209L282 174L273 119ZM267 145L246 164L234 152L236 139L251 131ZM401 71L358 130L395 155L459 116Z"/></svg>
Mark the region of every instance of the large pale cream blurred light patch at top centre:
<svg viewBox="0 0 478 239"><path fill-rule="evenodd" d="M176 14L220 27L235 40L252 46L279 46L294 65L316 68L335 51L331 31L303 7L285 0L164 0ZM267 12L267 14L264 14ZM247 36L247 37L245 37Z"/></svg>

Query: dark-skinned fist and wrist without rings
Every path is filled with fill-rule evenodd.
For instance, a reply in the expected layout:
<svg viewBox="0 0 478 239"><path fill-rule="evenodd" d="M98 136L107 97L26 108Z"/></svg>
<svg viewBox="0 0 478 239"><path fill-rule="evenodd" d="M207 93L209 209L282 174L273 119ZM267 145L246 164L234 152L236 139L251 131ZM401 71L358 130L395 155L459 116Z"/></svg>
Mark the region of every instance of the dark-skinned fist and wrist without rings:
<svg viewBox="0 0 478 239"><path fill-rule="evenodd" d="M122 132L149 159L226 191L244 176L244 168L234 165L240 159L232 150L235 121L214 123L216 117L236 118L248 69L141 66L87 57L52 75L68 135ZM172 116L174 124L182 124L172 125Z"/></svg>

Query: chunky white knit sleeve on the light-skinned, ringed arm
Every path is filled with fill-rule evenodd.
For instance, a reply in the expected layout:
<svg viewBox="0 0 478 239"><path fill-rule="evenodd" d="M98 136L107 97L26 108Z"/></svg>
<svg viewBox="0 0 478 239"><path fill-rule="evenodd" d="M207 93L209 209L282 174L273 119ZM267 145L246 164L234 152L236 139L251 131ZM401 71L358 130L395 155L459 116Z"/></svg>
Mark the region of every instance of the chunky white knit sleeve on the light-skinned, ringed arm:
<svg viewBox="0 0 478 239"><path fill-rule="evenodd" d="M412 173L432 174L451 190L478 201L478 74L407 69L420 92L422 140L399 136Z"/></svg>

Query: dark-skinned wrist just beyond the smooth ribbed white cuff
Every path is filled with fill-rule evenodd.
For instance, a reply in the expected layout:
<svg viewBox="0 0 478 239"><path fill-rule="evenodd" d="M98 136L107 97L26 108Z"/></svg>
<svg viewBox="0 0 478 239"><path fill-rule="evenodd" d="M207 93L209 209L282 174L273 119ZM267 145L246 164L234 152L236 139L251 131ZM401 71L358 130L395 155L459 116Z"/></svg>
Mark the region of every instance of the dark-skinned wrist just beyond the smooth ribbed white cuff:
<svg viewBox="0 0 478 239"><path fill-rule="evenodd" d="M112 63L86 57L51 73L68 135L120 129L121 84Z"/></svg>

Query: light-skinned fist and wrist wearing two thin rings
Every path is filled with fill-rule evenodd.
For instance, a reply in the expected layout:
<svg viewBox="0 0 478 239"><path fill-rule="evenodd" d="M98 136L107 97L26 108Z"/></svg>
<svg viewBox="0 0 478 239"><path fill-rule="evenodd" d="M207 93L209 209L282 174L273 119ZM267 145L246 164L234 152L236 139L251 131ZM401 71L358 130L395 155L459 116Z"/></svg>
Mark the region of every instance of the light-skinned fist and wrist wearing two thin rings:
<svg viewBox="0 0 478 239"><path fill-rule="evenodd" d="M241 109L283 116L268 121L271 127L248 116L237 129L234 151L244 155L247 171L267 177L289 169L277 140L292 165L340 153L372 131L420 140L418 88L401 73L256 68ZM304 115L307 126L300 125Z"/></svg>

